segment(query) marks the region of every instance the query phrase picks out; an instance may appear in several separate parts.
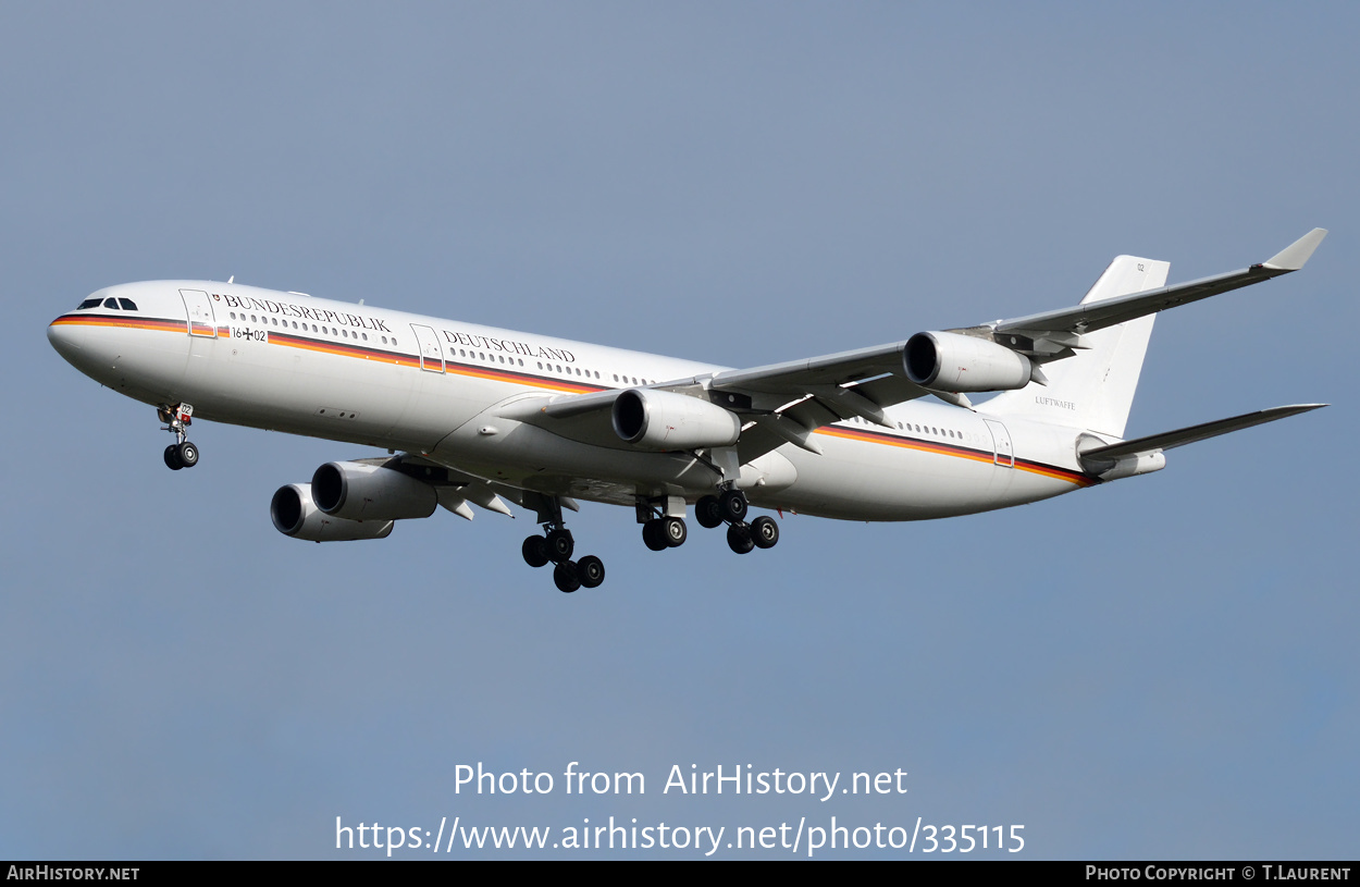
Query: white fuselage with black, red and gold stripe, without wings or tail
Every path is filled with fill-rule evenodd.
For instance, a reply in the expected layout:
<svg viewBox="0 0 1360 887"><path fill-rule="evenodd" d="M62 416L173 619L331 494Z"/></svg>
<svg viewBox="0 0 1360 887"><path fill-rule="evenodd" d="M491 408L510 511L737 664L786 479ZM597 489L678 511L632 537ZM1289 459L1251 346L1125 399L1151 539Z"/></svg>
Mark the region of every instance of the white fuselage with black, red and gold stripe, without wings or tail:
<svg viewBox="0 0 1360 887"><path fill-rule="evenodd" d="M691 453L639 450L598 419L533 423L514 403L721 367L235 283L132 283L94 299L52 322L57 351L136 400L192 404L194 418L405 450L490 482L617 505L694 502L718 482ZM1098 483L1077 461L1081 429L1002 424L985 408L933 400L885 414L891 429L819 429L821 454L792 444L766 453L738 486L767 509L896 521Z"/></svg>

